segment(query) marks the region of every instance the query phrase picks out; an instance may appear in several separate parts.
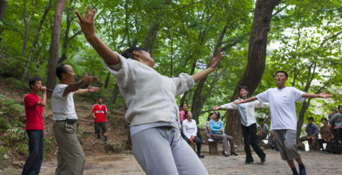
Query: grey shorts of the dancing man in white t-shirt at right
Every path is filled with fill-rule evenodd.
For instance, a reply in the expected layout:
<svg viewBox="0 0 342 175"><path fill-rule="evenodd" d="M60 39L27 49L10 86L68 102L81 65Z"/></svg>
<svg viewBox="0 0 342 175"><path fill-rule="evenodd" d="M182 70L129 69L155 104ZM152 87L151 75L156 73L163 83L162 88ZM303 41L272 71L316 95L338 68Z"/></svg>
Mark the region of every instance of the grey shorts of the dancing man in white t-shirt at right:
<svg viewBox="0 0 342 175"><path fill-rule="evenodd" d="M279 129L274 130L273 133L274 139L276 140L276 146L279 149L280 156L283 160L293 160L300 157L297 143L295 142L297 131L291 129Z"/></svg>

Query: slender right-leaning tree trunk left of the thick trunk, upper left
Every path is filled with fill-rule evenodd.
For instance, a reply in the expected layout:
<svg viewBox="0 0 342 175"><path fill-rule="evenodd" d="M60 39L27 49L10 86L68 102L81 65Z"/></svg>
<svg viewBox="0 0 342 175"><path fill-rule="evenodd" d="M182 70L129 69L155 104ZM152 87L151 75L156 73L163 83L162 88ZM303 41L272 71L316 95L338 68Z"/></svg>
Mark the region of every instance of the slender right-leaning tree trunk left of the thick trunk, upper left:
<svg viewBox="0 0 342 175"><path fill-rule="evenodd" d="M36 30L36 33L34 34L34 42L32 42L31 49L29 50L29 57L27 57L27 62L25 64L25 69L24 69L23 75L21 76L22 80L25 80L25 78L27 76L27 70L29 69L29 64L30 64L30 61L31 61L31 57L34 54L34 49L36 48L36 44L38 42L38 36L39 36L40 29L42 29L42 25L43 25L43 23L45 21L45 18L47 17L47 13L49 12L49 10L51 8L51 1L52 0L49 0L49 2L47 3L47 6L45 7L45 10L44 10L44 14L42 15L42 18L40 18L38 29Z"/></svg>

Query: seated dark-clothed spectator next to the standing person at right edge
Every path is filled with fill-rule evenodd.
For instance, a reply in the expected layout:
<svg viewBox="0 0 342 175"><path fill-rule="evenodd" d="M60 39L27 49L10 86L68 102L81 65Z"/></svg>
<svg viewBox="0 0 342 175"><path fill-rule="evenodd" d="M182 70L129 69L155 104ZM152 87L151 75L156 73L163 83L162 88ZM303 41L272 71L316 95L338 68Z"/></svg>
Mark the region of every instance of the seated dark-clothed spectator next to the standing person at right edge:
<svg viewBox="0 0 342 175"><path fill-rule="evenodd" d="M318 139L319 142L319 150L322 151L332 151L332 144L331 141L334 139L334 136L332 135L332 128L331 125L328 124L328 119L321 118L321 123L324 125L321 126L321 129L319 129L319 133L321 134L321 139ZM323 143L326 143L326 150L324 150Z"/></svg>

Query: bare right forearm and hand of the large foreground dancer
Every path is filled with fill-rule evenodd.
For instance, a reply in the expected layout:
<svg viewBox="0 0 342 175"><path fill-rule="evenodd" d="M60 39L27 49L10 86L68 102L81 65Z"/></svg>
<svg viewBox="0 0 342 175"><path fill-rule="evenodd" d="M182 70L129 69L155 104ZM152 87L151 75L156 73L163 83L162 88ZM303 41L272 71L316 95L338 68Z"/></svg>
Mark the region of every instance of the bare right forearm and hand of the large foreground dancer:
<svg viewBox="0 0 342 175"><path fill-rule="evenodd" d="M222 57L225 57L226 55L223 55L221 53L221 49L218 49L217 56L213 57L213 54L211 54L211 60L210 60L210 66L209 68L206 68L205 70L202 70L194 75L192 75L192 78L194 79L195 82L204 79L207 77L211 72L213 72L218 64L220 63L220 60Z"/></svg>

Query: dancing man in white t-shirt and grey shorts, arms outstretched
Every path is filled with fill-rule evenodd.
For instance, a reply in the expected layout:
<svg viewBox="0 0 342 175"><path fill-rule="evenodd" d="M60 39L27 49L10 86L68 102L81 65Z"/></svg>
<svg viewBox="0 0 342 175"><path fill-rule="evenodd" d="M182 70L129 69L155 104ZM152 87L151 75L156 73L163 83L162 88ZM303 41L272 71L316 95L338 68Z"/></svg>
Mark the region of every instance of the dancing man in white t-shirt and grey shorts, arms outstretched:
<svg viewBox="0 0 342 175"><path fill-rule="evenodd" d="M297 116L295 113L295 101L304 101L305 98L330 98L332 95L327 94L328 92L311 94L302 92L295 87L285 87L287 77L288 75L285 71L276 72L277 87L270 88L247 100L239 100L235 104L248 103L254 100L259 100L261 103L269 103L271 130L274 131L280 155L283 160L287 161L293 174L298 174L293 161L295 159L300 167L300 174L304 175L306 170L296 145Z"/></svg>

